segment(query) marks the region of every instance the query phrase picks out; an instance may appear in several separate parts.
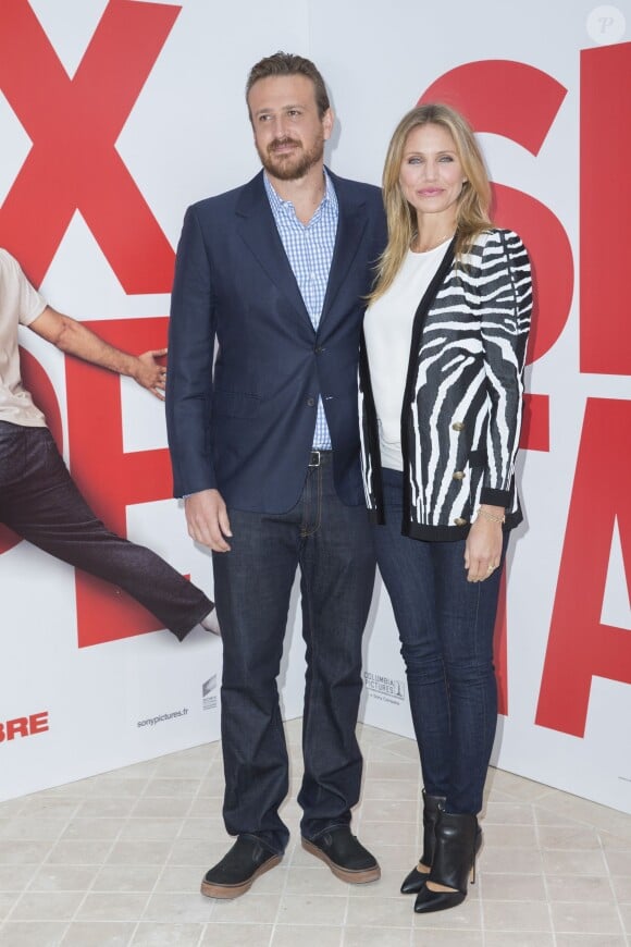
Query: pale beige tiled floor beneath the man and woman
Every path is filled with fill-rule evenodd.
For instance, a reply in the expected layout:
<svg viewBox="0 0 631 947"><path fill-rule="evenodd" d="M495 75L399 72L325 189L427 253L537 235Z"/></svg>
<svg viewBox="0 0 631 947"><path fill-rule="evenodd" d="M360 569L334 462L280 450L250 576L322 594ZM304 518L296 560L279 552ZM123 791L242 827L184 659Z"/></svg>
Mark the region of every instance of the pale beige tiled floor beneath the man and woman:
<svg viewBox="0 0 631 947"><path fill-rule="evenodd" d="M287 724L294 782L299 721ZM492 770L478 882L455 910L398 894L419 854L416 746L360 727L355 831L382 878L336 881L296 843L235 901L201 897L230 845L218 743L0 803L4 947L630 947L631 816Z"/></svg>

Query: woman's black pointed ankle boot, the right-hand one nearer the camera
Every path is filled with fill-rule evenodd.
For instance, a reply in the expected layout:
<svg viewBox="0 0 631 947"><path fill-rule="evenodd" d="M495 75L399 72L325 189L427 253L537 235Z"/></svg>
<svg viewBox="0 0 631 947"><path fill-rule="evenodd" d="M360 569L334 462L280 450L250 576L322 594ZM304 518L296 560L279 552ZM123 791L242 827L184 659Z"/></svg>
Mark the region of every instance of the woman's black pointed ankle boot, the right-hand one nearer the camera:
<svg viewBox="0 0 631 947"><path fill-rule="evenodd" d="M445 911L456 908L467 897L467 883L475 882L475 851L480 847L478 819L474 815L456 815L438 812L435 827L436 848L428 882L454 888L453 891L432 891L426 884L417 896L417 914Z"/></svg>

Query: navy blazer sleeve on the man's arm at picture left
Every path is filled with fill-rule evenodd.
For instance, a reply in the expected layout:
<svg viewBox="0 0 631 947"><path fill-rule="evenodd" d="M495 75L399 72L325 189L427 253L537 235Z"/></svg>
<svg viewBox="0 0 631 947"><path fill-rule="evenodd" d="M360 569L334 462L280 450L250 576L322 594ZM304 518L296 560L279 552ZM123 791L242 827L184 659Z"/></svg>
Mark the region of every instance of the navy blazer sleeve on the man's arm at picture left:
<svg viewBox="0 0 631 947"><path fill-rule="evenodd" d="M166 431L175 496L216 488L210 425L214 309L211 267L194 206L177 246L169 323Z"/></svg>

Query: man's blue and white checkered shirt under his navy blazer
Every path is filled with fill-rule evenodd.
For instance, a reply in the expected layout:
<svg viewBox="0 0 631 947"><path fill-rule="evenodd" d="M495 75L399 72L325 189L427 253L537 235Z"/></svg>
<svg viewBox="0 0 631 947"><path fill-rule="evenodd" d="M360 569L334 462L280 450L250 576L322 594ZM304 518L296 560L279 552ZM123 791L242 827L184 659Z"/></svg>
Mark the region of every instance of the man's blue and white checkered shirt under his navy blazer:
<svg viewBox="0 0 631 947"><path fill-rule="evenodd" d="M296 217L292 201L282 200L279 197L267 174L263 174L263 181L289 266L296 276L313 329L318 331L339 217L335 189L331 179L324 172L326 184L324 197L309 223L305 225ZM318 398L313 448L317 451L331 450L331 434L321 397Z"/></svg>

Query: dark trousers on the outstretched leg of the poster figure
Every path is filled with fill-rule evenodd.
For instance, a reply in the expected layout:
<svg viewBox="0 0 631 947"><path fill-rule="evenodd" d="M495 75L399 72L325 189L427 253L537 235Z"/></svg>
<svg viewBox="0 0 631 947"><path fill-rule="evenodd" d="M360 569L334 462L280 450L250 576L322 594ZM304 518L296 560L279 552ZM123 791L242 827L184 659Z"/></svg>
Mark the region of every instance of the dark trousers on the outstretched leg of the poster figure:
<svg viewBox="0 0 631 947"><path fill-rule="evenodd" d="M97 519L46 428L0 421L0 522L124 589L180 639L212 608L203 592L164 559Z"/></svg>

